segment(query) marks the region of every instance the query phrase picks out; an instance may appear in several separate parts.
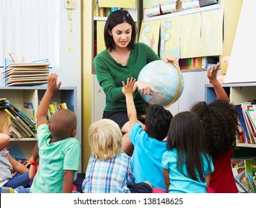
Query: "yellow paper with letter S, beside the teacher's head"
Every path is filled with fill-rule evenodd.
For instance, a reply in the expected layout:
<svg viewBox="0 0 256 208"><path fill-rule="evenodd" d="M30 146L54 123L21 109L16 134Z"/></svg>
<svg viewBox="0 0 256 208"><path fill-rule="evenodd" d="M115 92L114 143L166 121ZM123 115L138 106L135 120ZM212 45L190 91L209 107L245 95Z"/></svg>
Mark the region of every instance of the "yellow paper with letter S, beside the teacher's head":
<svg viewBox="0 0 256 208"><path fill-rule="evenodd" d="M150 46L158 54L160 21L142 22L138 42Z"/></svg>

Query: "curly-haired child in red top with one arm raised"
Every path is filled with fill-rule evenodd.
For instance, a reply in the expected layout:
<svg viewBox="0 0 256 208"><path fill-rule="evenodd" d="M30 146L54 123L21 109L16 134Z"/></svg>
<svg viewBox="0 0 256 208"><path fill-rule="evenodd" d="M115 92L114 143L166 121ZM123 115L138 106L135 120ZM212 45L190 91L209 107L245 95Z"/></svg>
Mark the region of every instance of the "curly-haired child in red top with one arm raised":
<svg viewBox="0 0 256 208"><path fill-rule="evenodd" d="M231 169L231 157L236 146L238 113L234 105L228 103L228 95L217 79L219 65L208 69L208 79L214 86L217 100L207 104L195 103L191 111L202 121L205 129L208 150L214 163L210 187L216 193L237 193Z"/></svg>

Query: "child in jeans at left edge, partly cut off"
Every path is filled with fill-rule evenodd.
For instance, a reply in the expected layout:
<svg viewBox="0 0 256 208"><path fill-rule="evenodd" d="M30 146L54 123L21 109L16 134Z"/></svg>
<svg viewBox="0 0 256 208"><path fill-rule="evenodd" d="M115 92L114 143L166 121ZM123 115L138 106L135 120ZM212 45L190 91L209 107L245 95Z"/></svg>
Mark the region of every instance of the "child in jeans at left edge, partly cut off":
<svg viewBox="0 0 256 208"><path fill-rule="evenodd" d="M0 111L0 187L16 189L18 186L29 187L28 168L15 160L7 150L6 146L10 143L11 135L10 116ZM19 172L20 175L12 176L12 172ZM2 187L1 191L4 188Z"/></svg>

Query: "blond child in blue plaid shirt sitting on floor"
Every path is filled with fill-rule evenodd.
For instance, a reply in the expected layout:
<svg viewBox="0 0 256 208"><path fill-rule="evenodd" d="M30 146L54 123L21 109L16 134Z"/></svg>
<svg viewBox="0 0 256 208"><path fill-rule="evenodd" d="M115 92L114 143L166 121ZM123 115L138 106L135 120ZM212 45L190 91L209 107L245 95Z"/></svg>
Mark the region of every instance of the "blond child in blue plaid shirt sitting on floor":
<svg viewBox="0 0 256 208"><path fill-rule="evenodd" d="M82 189L85 193L150 193L147 182L135 183L132 160L121 151L122 133L113 120L102 119L89 127L92 155Z"/></svg>

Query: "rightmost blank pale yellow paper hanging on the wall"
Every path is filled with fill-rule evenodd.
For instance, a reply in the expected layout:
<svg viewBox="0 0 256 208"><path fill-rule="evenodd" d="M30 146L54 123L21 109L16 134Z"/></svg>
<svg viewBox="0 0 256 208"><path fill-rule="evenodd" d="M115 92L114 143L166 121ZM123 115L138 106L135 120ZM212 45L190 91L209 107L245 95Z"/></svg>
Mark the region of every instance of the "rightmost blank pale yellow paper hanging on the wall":
<svg viewBox="0 0 256 208"><path fill-rule="evenodd" d="M223 54L223 9L202 12L202 56Z"/></svg>

